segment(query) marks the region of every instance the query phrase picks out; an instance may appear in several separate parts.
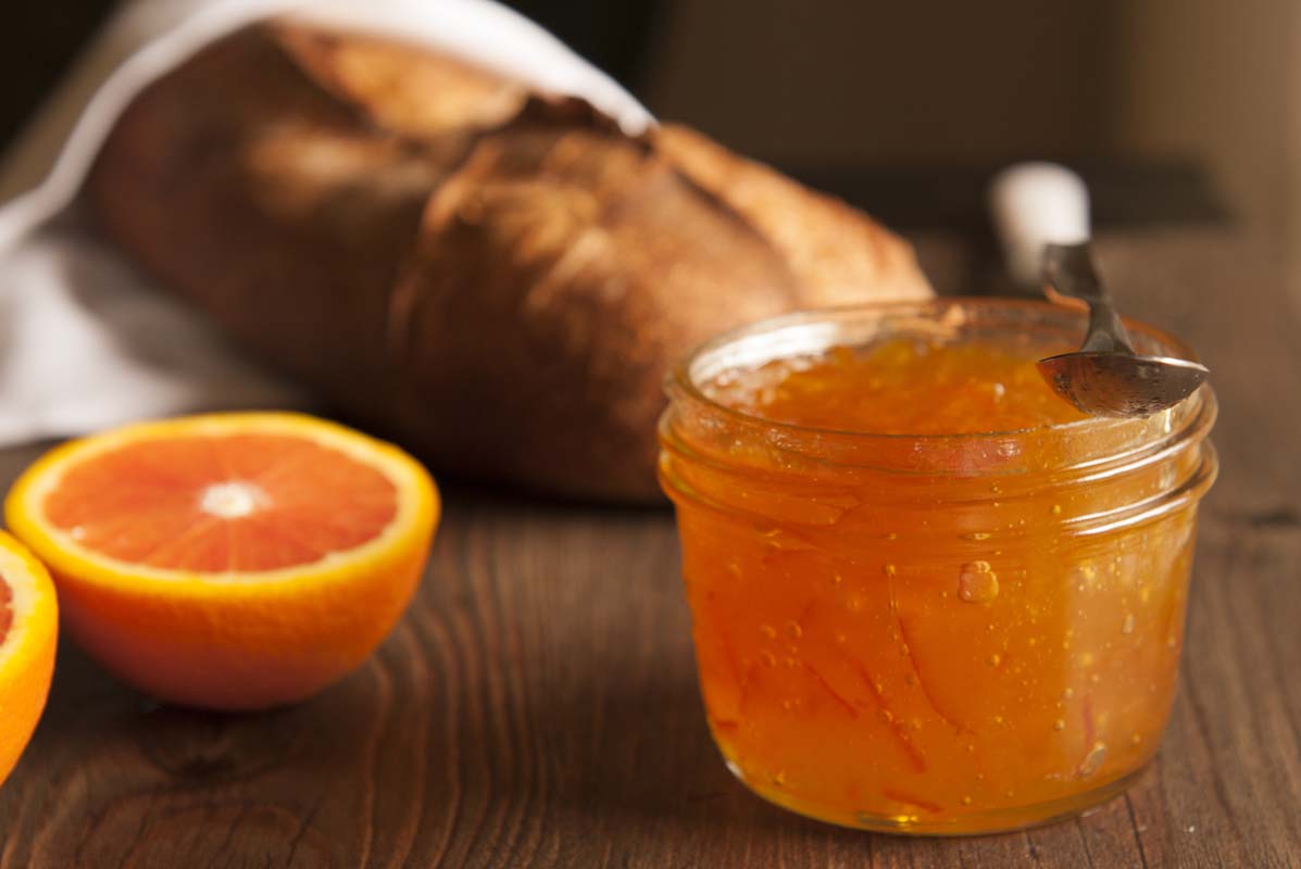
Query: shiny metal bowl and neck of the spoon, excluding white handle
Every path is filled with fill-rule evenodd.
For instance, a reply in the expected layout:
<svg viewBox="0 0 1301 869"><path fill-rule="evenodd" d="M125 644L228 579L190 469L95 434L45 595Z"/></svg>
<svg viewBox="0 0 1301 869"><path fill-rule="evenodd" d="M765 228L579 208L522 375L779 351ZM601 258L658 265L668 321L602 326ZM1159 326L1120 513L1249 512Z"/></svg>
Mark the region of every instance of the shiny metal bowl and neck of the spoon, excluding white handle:
<svg viewBox="0 0 1301 869"><path fill-rule="evenodd" d="M1088 242L1049 245L1043 251L1047 295L1089 306L1089 332L1075 353L1038 362L1056 394L1094 416L1150 416L1188 398L1210 371L1188 359L1134 353Z"/></svg>

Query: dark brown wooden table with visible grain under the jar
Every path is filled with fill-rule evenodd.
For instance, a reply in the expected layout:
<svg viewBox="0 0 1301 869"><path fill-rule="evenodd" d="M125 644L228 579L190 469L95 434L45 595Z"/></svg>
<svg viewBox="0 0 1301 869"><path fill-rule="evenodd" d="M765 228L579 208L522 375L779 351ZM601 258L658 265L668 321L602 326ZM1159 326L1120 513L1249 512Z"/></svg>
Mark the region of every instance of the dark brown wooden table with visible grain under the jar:
<svg viewBox="0 0 1301 869"><path fill-rule="evenodd" d="M922 251L961 282L952 239ZM1301 319L1226 229L1102 259L1214 369L1223 466L1164 747L1097 813L946 840L771 808L705 730L670 514L453 488L401 627L302 706L160 708L65 643L0 790L0 869L1301 866ZM0 453L0 485L38 453Z"/></svg>

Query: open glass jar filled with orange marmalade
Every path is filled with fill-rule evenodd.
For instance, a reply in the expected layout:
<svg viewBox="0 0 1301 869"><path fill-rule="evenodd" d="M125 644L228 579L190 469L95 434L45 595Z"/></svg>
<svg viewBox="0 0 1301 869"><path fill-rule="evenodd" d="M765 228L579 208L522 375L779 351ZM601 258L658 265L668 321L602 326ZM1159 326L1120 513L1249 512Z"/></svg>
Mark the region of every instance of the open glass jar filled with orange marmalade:
<svg viewBox="0 0 1301 869"><path fill-rule="evenodd" d="M661 480L701 692L761 796L984 833L1095 805L1153 756L1215 401L1084 416L1034 368L1082 332L1028 302L821 311L670 376Z"/></svg>

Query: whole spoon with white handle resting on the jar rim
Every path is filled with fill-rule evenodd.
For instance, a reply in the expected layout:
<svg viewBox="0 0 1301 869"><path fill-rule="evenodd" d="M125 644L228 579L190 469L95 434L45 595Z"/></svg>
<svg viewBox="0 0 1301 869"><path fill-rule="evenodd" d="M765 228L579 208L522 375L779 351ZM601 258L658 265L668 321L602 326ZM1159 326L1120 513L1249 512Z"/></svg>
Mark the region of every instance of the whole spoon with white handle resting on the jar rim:
<svg viewBox="0 0 1301 869"><path fill-rule="evenodd" d="M1038 363L1059 395L1095 416L1150 416L1206 380L1196 362L1134 353L1093 265L1080 176L1051 163L1019 164L994 180L990 206L1012 277L1026 287L1043 278L1054 302L1089 306L1080 350Z"/></svg>

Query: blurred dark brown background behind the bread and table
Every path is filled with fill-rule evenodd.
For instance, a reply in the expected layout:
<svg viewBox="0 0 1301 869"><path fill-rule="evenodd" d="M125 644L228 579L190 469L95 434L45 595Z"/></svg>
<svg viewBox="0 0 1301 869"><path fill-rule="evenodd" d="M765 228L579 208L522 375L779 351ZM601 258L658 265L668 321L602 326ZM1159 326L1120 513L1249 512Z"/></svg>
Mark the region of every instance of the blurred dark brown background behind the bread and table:
<svg viewBox="0 0 1301 869"><path fill-rule="evenodd" d="M111 0L22 4L0 31L0 143ZM1288 0L514 0L652 111L900 229L984 225L989 174L1082 172L1101 228L1242 220L1292 258ZM1289 30L1291 29L1291 30ZM1293 195L1296 193L1297 195Z"/></svg>

